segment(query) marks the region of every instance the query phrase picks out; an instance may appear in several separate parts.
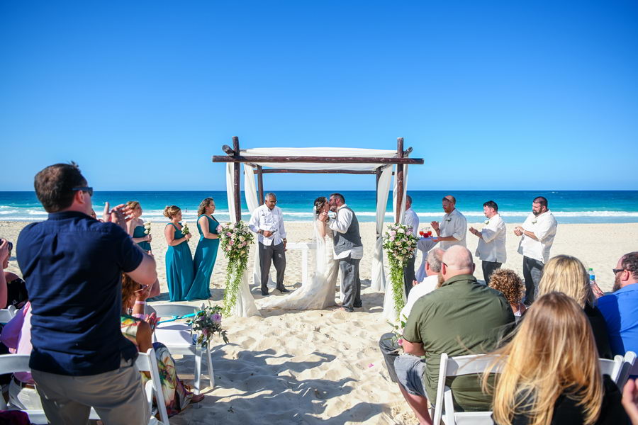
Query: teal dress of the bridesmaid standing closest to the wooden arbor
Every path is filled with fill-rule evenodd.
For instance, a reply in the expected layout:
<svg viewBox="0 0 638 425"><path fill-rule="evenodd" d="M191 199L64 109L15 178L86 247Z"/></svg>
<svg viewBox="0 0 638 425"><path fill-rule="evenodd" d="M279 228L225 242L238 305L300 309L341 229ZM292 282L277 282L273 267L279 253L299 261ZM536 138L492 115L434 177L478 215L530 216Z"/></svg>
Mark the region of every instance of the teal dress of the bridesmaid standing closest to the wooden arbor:
<svg viewBox="0 0 638 425"><path fill-rule="evenodd" d="M195 280L191 290L186 294L186 300L208 300L211 297L211 275L213 274L213 266L217 259L217 249L219 248L219 239L206 239L201 232L199 219L206 217L208 219L208 231L217 233L219 222L208 215L200 215L197 217L197 229L199 231L199 242L195 251L195 259L193 260Z"/></svg>

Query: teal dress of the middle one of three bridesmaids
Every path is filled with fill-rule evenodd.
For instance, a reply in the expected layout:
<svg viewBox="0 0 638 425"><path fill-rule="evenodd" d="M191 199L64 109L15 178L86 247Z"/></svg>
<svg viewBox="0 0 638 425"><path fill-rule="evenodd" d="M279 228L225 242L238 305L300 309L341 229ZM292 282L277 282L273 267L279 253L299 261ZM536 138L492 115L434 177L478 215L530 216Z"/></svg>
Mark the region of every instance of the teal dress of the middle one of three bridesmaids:
<svg viewBox="0 0 638 425"><path fill-rule="evenodd" d="M167 226L175 228L175 239L184 238L184 234L173 223ZM193 257L188 242L169 246L166 251L166 280L171 301L184 301L185 295L193 285Z"/></svg>

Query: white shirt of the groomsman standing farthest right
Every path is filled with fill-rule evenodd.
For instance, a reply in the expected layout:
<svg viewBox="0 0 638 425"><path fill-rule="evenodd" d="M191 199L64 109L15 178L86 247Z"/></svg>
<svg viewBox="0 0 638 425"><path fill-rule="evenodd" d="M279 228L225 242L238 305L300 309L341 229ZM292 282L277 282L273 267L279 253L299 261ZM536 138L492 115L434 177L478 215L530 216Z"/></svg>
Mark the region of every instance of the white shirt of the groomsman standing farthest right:
<svg viewBox="0 0 638 425"><path fill-rule="evenodd" d="M528 215L522 228L535 234L538 240L535 241L523 234L520 238L520 244L518 244L518 254L547 263L549 250L552 249L554 237L556 236L557 225L558 223L556 223L556 219L550 210L543 212L541 215Z"/></svg>

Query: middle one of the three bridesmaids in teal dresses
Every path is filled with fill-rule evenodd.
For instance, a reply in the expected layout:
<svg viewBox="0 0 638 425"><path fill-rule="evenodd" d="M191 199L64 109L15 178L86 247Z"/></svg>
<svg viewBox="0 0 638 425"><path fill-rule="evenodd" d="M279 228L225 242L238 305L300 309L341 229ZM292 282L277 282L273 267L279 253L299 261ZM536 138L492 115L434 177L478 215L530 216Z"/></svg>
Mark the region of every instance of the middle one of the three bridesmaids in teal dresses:
<svg viewBox="0 0 638 425"><path fill-rule="evenodd" d="M176 205L164 208L164 216L171 222L164 227L164 237L168 244L166 251L166 280L171 301L184 301L184 295L193 285L193 257L189 248L191 233L183 234L181 210Z"/></svg>

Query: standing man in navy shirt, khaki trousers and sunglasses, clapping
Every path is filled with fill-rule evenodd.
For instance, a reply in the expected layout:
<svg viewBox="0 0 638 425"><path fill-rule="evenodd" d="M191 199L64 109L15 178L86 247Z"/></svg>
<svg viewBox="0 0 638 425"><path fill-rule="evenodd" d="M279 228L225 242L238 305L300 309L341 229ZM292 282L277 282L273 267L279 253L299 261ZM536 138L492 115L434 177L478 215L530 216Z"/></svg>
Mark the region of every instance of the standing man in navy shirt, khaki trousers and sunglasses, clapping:
<svg viewBox="0 0 638 425"><path fill-rule="evenodd" d="M50 424L146 424L150 413L135 367L137 349L120 329L121 273L142 285L155 260L121 227L123 207L90 217L93 188L76 164L47 166L35 193L49 212L18 237L18 264L31 302L30 368Z"/></svg>

